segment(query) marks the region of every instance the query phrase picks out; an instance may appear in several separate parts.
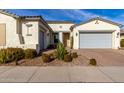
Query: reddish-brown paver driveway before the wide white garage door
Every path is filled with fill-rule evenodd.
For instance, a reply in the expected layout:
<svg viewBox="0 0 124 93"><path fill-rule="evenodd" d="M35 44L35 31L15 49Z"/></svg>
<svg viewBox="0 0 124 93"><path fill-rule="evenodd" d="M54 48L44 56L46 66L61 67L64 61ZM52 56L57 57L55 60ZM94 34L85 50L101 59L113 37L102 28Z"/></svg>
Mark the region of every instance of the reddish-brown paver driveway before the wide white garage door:
<svg viewBox="0 0 124 93"><path fill-rule="evenodd" d="M77 52L87 58L95 58L99 66L124 66L124 50L79 49Z"/></svg>

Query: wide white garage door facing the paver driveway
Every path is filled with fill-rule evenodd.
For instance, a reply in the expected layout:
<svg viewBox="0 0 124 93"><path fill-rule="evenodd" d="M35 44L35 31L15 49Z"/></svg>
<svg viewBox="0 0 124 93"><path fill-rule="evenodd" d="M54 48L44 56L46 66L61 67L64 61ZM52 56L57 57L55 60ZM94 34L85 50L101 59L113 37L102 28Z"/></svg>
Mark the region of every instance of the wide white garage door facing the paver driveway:
<svg viewBox="0 0 124 93"><path fill-rule="evenodd" d="M80 33L80 48L112 48L112 33Z"/></svg>

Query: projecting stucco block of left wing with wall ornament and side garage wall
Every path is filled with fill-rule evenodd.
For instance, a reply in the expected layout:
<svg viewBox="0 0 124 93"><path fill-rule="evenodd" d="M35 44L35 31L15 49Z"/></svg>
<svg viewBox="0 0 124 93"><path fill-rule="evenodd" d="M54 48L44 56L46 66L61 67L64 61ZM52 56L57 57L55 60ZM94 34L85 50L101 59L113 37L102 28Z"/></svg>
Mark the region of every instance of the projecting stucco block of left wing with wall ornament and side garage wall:
<svg viewBox="0 0 124 93"><path fill-rule="evenodd" d="M27 26L26 24L31 24L32 27L29 27L29 34L32 36L27 36ZM44 33L44 44L42 42L42 37L40 36L40 33ZM44 45L44 49L47 48L49 44L51 44L50 40L50 31L45 25L43 25L39 21L25 21L22 22L22 34L25 40L25 45L36 45L37 46L37 51L40 50L40 43ZM49 34L49 35L47 35Z"/></svg>

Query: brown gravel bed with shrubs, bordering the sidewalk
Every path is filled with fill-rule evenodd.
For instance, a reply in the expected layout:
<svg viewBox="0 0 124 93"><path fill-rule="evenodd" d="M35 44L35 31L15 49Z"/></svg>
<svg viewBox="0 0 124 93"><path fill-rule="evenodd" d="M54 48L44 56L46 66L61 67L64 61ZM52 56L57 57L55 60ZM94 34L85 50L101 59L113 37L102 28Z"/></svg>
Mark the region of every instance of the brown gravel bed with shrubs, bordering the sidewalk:
<svg viewBox="0 0 124 93"><path fill-rule="evenodd" d="M18 66L88 66L88 59L79 55L78 58L72 60L72 62L64 62L55 59L49 63L44 63L41 56L33 59L23 59L18 61ZM0 64L0 66L16 66L15 62L10 62L6 64Z"/></svg>

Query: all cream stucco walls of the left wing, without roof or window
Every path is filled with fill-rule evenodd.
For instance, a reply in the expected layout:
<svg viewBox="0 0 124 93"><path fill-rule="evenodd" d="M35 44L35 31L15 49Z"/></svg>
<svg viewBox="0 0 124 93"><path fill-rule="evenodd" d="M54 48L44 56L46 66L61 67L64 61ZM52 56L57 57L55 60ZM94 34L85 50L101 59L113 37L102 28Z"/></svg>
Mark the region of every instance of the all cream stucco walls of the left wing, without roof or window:
<svg viewBox="0 0 124 93"><path fill-rule="evenodd" d="M50 34L51 32L49 29L38 20L36 21L29 21L29 20L20 20L15 19L12 16L8 16L5 14L0 13L0 24L6 25L6 45L0 46L0 48L7 48L7 47L20 47L20 48L32 48L37 49L39 51L39 33L42 30L44 34L44 48L46 48L51 42ZM32 26L29 27L29 34L27 35L28 27L26 24L31 24ZM41 28L40 28L41 26ZM40 30L41 29L41 30ZM46 36L49 33L49 36ZM24 38L24 44L20 44L19 35L22 34ZM53 43L53 42L52 42Z"/></svg>

